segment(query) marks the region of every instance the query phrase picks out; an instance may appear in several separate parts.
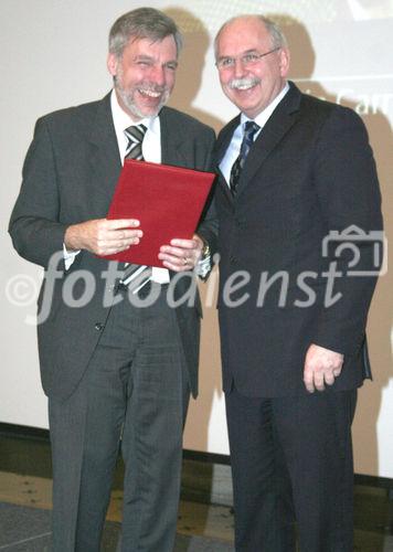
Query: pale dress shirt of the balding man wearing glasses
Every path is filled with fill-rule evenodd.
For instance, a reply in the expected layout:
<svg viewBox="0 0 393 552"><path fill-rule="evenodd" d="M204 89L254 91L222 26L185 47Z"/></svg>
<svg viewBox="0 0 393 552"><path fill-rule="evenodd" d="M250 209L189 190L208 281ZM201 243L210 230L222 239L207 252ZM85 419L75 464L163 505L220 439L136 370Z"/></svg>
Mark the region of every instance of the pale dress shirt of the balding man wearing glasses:
<svg viewBox="0 0 393 552"><path fill-rule="evenodd" d="M265 109L262 113L259 113L259 115L257 115L255 119L249 119L242 113L241 123L233 132L231 144L229 145L227 150L225 151L225 155L220 163L221 172L224 174L227 185L230 185L232 166L236 161L238 153L241 151L245 124L247 123L247 120L254 120L261 127L261 129L254 135L254 141L255 141L256 138L259 136L262 129L266 125L268 118L270 117L270 115L273 114L273 112L275 110L275 108L277 107L277 105L280 103L280 100L284 98L284 96L287 94L288 91L289 91L289 84L286 83L282 92L277 94L274 100L270 102L270 104L267 107L265 107Z"/></svg>

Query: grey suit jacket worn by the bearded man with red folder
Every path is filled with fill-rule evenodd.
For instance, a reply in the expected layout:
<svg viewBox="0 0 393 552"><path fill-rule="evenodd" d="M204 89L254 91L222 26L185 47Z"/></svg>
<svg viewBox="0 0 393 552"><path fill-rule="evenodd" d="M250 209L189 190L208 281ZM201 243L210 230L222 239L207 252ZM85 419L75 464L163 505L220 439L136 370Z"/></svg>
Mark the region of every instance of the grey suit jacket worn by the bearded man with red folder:
<svg viewBox="0 0 393 552"><path fill-rule="evenodd" d="M162 108L162 162L191 169L211 169L214 132L176 109ZM23 182L10 221L14 247L21 256L47 267L63 248L70 224L105 217L121 162L110 113L109 95L103 100L50 114L36 123L34 139L23 167ZM162 191L164 193L164 190ZM199 233L214 243L215 223L206 215ZM60 253L61 274L49 274L41 288L39 309L53 297L47 319L38 326L41 378L46 394L70 395L87 367L106 323L110 307L103 306L108 262L87 251L66 273ZM88 270L95 282L92 300L84 308L65 305L62 290L76 269ZM53 275L53 270L52 270ZM181 294L188 280L177 286ZM89 285L93 289L92 285ZM74 297L85 291L83 278L73 285ZM199 298L192 307L177 308L190 383L198 392Z"/></svg>

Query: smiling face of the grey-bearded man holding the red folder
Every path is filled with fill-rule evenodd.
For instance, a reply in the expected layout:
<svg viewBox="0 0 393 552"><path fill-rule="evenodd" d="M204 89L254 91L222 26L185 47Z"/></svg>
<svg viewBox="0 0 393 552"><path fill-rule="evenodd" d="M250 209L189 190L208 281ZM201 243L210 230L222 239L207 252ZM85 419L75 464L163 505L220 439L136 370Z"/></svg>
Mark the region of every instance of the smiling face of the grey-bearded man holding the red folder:
<svg viewBox="0 0 393 552"><path fill-rule="evenodd" d="M108 55L108 71L121 108L137 121L156 116L174 86L177 46L172 35L162 41L130 40L118 59Z"/></svg>

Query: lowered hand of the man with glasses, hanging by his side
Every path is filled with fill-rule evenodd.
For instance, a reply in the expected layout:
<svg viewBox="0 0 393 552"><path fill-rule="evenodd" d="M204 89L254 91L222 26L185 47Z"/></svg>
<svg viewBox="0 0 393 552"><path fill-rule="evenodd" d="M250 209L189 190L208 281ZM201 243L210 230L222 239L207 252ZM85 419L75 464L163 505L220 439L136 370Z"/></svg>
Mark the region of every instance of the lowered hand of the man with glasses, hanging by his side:
<svg viewBox="0 0 393 552"><path fill-rule="evenodd" d="M307 391L325 390L325 383L332 385L341 373L343 354L317 344L310 344L306 354L304 382Z"/></svg>

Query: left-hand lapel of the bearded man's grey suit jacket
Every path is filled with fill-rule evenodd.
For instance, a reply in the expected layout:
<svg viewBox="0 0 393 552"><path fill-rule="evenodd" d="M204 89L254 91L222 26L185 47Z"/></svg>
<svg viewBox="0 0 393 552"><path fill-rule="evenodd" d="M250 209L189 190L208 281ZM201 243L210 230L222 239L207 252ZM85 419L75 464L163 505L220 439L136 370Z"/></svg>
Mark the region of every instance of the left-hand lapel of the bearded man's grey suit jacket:
<svg viewBox="0 0 393 552"><path fill-rule="evenodd" d="M105 216L121 170L121 160L110 110L110 93L98 104L89 135L91 183L97 215Z"/></svg>

